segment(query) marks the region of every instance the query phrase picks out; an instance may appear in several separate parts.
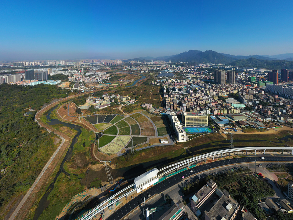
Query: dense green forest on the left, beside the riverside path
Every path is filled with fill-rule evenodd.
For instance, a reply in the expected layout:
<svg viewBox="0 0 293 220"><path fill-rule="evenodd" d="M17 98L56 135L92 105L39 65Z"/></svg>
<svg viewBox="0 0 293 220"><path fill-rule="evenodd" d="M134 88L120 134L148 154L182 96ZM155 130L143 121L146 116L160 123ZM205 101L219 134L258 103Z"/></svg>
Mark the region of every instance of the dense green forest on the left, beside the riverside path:
<svg viewBox="0 0 293 220"><path fill-rule="evenodd" d="M16 200L30 188L57 148L56 135L24 116L24 108L39 110L53 98L66 97L61 88L0 85L0 213L7 215ZM9 205L8 205L9 204Z"/></svg>

